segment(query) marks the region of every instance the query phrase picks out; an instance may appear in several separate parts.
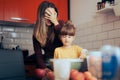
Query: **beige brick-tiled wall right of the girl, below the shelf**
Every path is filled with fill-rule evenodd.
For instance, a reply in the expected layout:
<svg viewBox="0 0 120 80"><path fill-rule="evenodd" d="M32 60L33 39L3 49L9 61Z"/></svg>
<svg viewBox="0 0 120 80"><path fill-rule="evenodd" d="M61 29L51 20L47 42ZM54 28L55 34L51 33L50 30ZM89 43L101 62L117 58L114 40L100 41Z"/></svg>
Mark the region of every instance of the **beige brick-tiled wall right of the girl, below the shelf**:
<svg viewBox="0 0 120 80"><path fill-rule="evenodd" d="M77 25L76 44L88 50L98 50L103 45L120 46L120 17L111 10L96 13L92 21Z"/></svg>

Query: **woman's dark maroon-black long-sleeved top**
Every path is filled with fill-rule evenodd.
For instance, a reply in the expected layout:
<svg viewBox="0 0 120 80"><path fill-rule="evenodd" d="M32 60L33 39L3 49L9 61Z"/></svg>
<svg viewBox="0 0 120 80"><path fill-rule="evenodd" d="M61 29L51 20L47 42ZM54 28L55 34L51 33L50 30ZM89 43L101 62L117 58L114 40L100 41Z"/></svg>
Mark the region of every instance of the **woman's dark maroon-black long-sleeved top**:
<svg viewBox="0 0 120 80"><path fill-rule="evenodd" d="M41 47L41 44L37 41L37 39L33 36L33 47L34 47L34 51L35 51L35 55L36 55L36 60L37 60L37 67L38 68L46 68L46 64L45 64L45 60L48 58L53 58L54 56L54 49L56 47L62 46L62 43L60 42L59 38L58 38L58 34L59 34L59 30L61 28L61 26L64 24L63 21L59 21L59 25L54 26L55 27L55 39L54 41L51 42L47 42L46 45L44 47ZM50 34L48 34L49 36ZM44 53L43 54L43 51Z"/></svg>

